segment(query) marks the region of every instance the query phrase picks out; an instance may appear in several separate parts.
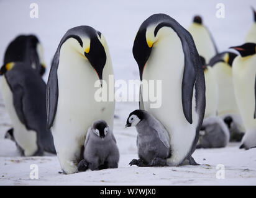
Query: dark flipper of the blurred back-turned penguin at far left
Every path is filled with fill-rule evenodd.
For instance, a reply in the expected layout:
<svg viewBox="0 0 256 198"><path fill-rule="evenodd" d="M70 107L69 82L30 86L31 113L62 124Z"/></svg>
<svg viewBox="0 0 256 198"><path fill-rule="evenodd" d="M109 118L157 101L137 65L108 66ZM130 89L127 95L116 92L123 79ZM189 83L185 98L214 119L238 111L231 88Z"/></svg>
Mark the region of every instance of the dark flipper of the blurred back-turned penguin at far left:
<svg viewBox="0 0 256 198"><path fill-rule="evenodd" d="M27 120L25 119L25 114L24 114L24 108L23 108L23 95L24 95L24 90L21 87L21 85L15 85L13 87L13 103L14 103L14 108L16 110L17 116L21 123L25 125L27 129L29 129Z"/></svg>

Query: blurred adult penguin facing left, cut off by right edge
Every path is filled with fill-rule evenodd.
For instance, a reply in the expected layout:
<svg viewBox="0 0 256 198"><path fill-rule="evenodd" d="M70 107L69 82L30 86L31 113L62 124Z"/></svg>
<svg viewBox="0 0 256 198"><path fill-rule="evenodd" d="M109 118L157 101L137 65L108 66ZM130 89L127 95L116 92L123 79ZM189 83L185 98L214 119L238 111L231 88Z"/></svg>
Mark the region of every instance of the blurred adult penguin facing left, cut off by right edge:
<svg viewBox="0 0 256 198"><path fill-rule="evenodd" d="M245 127L245 135L240 149L256 147L255 119L255 75L256 75L256 44L245 43L233 46L240 56L232 64L235 98Z"/></svg>

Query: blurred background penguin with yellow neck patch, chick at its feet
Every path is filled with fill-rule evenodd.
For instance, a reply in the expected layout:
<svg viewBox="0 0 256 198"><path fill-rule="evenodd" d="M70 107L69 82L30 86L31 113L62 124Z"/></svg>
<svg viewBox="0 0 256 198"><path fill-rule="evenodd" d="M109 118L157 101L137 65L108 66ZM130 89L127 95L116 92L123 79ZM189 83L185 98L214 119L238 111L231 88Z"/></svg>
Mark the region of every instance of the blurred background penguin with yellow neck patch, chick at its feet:
<svg viewBox="0 0 256 198"><path fill-rule="evenodd" d="M219 92L217 116L222 118L229 128L231 142L240 142L245 131L235 100L232 80L232 62L236 56L235 53L224 51L209 61L209 66L213 68L216 76Z"/></svg>

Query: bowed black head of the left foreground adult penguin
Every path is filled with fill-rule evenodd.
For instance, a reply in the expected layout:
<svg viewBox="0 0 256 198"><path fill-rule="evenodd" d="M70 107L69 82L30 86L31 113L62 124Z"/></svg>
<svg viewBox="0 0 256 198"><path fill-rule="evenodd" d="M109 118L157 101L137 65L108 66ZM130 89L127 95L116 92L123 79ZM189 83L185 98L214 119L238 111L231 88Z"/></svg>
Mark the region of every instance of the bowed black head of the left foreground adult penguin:
<svg viewBox="0 0 256 198"><path fill-rule="evenodd" d="M81 54L81 57L89 61L94 71L99 77L99 80L103 79L103 69L106 64L106 40L101 32L94 30L89 26L79 26L71 28L64 35L61 45L68 40L68 38L74 38L76 41L69 42L71 48L77 53Z"/></svg>

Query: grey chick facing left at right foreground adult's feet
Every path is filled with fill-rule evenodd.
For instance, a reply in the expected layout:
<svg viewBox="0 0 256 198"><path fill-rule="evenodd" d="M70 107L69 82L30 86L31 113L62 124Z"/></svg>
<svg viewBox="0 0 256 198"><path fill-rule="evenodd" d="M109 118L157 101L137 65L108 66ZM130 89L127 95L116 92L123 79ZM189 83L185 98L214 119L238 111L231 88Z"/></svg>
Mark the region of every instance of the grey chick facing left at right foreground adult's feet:
<svg viewBox="0 0 256 198"><path fill-rule="evenodd" d="M135 110L129 114L126 127L135 126L138 132L137 147L139 160L129 165L167 166L170 157L170 137L160 121L147 111Z"/></svg>

